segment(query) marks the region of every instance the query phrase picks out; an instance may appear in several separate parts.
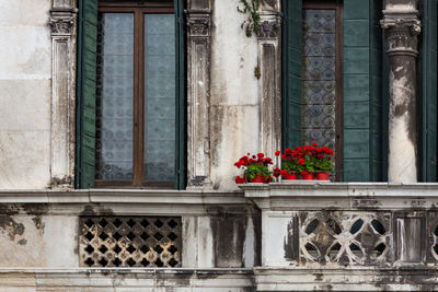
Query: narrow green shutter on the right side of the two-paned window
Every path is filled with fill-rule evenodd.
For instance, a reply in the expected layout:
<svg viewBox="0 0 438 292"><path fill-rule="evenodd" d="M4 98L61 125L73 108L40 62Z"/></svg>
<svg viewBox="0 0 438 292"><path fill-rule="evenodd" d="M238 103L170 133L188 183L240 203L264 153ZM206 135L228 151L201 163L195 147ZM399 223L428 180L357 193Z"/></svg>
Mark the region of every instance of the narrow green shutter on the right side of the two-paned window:
<svg viewBox="0 0 438 292"><path fill-rule="evenodd" d="M183 0L175 0L175 46L176 46L176 188L186 184L186 139L185 139L185 33Z"/></svg>

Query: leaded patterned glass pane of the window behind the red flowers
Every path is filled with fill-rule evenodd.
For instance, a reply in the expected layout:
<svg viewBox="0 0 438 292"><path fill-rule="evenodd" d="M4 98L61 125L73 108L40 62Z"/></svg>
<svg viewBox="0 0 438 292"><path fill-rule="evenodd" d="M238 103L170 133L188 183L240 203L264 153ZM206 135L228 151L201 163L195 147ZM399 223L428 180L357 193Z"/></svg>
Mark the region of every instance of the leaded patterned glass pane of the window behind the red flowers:
<svg viewBox="0 0 438 292"><path fill-rule="evenodd" d="M302 11L301 140L335 147L335 10Z"/></svg>

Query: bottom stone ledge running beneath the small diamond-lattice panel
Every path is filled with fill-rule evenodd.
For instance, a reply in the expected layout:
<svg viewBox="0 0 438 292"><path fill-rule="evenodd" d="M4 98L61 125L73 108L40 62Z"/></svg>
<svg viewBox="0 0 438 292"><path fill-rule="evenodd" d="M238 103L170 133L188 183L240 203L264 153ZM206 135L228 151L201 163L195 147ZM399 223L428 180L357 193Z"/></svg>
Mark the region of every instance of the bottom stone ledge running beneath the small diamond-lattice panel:
<svg viewBox="0 0 438 292"><path fill-rule="evenodd" d="M253 287L251 269L0 268L0 288L7 291L243 292Z"/></svg>

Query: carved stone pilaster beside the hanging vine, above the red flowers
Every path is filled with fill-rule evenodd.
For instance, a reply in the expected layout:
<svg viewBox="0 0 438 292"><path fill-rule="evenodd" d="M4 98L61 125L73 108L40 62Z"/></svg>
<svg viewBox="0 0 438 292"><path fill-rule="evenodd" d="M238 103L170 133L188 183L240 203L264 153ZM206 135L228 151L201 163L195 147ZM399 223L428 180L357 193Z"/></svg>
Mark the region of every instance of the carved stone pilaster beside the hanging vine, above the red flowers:
<svg viewBox="0 0 438 292"><path fill-rule="evenodd" d="M257 34L261 106L261 151L274 157L281 148L281 19L269 10L261 12Z"/></svg>

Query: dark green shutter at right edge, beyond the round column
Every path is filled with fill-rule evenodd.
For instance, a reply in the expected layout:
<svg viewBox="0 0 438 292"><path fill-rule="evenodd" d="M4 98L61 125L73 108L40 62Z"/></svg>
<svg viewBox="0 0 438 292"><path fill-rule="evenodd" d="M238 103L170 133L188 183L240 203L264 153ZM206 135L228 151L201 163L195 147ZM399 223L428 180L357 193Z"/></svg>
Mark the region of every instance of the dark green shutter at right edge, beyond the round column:
<svg viewBox="0 0 438 292"><path fill-rule="evenodd" d="M437 1L425 0L423 15L422 180L437 180Z"/></svg>

